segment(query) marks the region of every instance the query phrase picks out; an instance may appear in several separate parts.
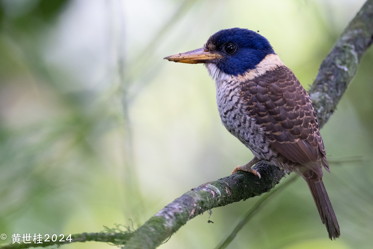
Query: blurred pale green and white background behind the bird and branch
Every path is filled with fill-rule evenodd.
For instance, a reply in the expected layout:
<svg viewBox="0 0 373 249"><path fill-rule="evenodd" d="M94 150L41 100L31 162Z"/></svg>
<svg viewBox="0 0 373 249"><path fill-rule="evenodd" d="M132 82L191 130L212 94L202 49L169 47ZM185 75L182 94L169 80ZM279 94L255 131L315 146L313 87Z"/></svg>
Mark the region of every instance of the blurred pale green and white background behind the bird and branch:
<svg viewBox="0 0 373 249"><path fill-rule="evenodd" d="M253 156L220 122L203 65L163 57L258 30L306 89L364 0L0 0L0 233L138 227ZM372 248L373 50L321 133L330 241L306 184L273 196L228 248ZM282 181L286 181L284 178ZM214 248L260 197L213 209L160 248ZM74 243L64 248L113 248Z"/></svg>

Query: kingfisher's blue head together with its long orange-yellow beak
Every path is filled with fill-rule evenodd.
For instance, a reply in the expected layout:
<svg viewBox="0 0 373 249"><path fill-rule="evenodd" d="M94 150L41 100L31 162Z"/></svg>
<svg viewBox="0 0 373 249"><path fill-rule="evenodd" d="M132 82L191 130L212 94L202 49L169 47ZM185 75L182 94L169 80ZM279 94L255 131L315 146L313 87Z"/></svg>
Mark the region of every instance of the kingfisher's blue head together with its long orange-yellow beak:
<svg viewBox="0 0 373 249"><path fill-rule="evenodd" d="M228 75L241 75L254 69L269 54L275 54L269 41L252 30L222 29L207 40L204 47L165 57L183 63L214 63Z"/></svg>

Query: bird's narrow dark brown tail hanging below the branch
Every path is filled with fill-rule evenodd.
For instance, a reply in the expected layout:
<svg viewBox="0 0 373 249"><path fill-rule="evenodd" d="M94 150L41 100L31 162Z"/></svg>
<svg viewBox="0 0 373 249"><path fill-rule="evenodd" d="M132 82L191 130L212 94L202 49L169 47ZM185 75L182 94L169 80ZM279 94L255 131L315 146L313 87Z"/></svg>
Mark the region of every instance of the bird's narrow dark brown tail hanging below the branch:
<svg viewBox="0 0 373 249"><path fill-rule="evenodd" d="M302 174L302 177L307 182L310 188L312 197L316 203L319 211L321 221L325 224L329 233L330 239L336 239L341 234L335 213L330 203L329 196L327 196L322 177L317 175L314 171L309 170Z"/></svg>

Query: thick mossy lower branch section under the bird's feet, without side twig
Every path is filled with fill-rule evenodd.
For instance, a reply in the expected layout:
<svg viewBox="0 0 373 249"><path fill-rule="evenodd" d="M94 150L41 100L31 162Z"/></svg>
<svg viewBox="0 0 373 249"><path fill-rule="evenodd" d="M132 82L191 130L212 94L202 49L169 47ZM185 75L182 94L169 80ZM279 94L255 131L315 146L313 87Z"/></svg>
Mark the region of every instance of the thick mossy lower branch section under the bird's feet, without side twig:
<svg viewBox="0 0 373 249"><path fill-rule="evenodd" d="M156 248L188 220L209 209L269 192L284 175L282 170L264 161L254 168L260 172L261 179L239 171L186 192L139 227L125 248Z"/></svg>

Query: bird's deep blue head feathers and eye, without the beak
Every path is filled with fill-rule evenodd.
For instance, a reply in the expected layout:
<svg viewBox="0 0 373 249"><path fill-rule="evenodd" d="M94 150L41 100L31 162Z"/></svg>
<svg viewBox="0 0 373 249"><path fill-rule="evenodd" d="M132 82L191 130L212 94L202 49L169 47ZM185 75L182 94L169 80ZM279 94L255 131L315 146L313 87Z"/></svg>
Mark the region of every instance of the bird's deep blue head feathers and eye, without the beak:
<svg viewBox="0 0 373 249"><path fill-rule="evenodd" d="M222 72L235 76L254 69L266 55L275 53L266 38L242 28L216 32L207 40L205 49L220 54L221 58L211 62Z"/></svg>

